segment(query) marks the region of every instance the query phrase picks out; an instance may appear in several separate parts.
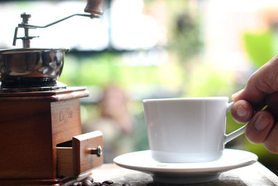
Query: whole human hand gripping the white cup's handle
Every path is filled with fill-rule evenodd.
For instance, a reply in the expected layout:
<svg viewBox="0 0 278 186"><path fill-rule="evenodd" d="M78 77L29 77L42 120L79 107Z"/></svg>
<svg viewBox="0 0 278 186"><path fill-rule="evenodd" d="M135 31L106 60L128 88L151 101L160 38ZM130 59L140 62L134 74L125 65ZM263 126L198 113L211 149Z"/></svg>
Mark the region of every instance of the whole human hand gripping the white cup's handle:
<svg viewBox="0 0 278 186"><path fill-rule="evenodd" d="M249 121L245 135L278 154L278 56L248 79L245 88L232 96L231 116L238 123ZM266 108L265 108L266 105ZM265 108L265 109L263 109Z"/></svg>

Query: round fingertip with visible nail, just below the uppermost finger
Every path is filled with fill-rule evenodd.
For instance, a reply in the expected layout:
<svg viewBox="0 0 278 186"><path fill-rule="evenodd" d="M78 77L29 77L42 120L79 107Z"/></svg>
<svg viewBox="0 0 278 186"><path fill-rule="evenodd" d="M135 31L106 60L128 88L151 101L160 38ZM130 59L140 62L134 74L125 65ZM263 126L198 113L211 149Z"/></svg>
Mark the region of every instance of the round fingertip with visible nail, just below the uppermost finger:
<svg viewBox="0 0 278 186"><path fill-rule="evenodd" d="M246 123L247 121L250 121L252 114L252 105L245 100L238 100L231 108L231 116L237 123Z"/></svg>

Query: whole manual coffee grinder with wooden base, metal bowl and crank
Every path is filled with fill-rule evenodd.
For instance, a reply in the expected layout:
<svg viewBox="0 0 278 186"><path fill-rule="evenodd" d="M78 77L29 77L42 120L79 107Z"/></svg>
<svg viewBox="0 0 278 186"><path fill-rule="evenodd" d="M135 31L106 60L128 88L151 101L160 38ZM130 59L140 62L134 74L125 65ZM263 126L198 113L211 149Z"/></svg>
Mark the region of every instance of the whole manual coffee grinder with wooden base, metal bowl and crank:
<svg viewBox="0 0 278 186"><path fill-rule="evenodd" d="M31 48L35 37L28 36L28 29L76 15L97 18L100 4L88 1L85 14L46 26L28 24L31 15L23 13L13 40L23 47L0 51L0 185L71 185L102 164L101 132L81 134L79 98L88 91L56 81L65 49Z"/></svg>

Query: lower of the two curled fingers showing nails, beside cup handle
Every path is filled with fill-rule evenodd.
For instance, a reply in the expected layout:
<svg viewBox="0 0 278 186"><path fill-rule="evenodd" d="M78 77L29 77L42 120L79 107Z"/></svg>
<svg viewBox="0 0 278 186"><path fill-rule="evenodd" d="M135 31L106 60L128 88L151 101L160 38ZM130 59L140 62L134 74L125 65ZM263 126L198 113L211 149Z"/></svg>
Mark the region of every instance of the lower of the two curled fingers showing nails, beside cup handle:
<svg viewBox="0 0 278 186"><path fill-rule="evenodd" d="M254 144L261 144L268 137L274 118L268 111L258 111L246 127L245 135Z"/></svg>

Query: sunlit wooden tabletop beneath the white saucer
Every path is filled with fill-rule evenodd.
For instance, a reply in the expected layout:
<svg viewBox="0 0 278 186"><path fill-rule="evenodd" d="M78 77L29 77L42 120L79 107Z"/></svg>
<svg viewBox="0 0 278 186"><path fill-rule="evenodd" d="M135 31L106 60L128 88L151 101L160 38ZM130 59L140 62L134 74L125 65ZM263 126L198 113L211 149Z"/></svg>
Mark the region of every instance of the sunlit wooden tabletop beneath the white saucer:
<svg viewBox="0 0 278 186"><path fill-rule="evenodd" d="M130 183L132 186L159 185L147 173L124 169L115 164L103 164L92 171L96 182L113 180L115 183ZM170 184L165 184L170 185ZM278 177L261 163L233 169L220 174L220 178L210 183L194 185L278 185Z"/></svg>

